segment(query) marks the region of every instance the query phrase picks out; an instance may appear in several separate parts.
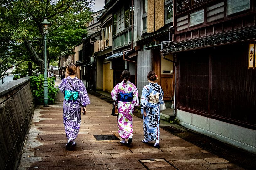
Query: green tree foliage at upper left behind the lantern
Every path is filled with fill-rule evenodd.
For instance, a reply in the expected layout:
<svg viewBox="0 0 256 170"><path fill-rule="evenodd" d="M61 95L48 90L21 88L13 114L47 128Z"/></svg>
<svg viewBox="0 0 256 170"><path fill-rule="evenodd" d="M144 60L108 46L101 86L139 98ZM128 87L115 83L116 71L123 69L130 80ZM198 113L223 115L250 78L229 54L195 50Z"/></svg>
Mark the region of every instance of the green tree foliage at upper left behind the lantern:
<svg viewBox="0 0 256 170"><path fill-rule="evenodd" d="M48 63L70 54L86 36L94 0L0 1L0 77L6 68L33 61L44 72L44 41L41 22L51 23L47 37Z"/></svg>

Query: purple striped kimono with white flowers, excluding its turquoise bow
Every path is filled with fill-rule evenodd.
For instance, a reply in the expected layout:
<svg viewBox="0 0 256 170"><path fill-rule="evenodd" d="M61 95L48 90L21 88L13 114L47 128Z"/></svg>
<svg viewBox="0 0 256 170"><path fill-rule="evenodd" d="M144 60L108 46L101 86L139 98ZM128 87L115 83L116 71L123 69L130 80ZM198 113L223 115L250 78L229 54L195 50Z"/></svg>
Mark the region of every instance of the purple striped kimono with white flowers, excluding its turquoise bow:
<svg viewBox="0 0 256 170"><path fill-rule="evenodd" d="M83 107L90 104L90 99L88 97L85 85L83 84L82 80L78 79L77 77L71 78L70 76L62 79L59 89L65 94L65 90L74 90L71 85L77 90L79 93L79 97L77 100L65 100L63 101L63 124L66 131L67 138L76 139L80 124L81 124L81 104ZM80 104L80 103L81 104Z"/></svg>

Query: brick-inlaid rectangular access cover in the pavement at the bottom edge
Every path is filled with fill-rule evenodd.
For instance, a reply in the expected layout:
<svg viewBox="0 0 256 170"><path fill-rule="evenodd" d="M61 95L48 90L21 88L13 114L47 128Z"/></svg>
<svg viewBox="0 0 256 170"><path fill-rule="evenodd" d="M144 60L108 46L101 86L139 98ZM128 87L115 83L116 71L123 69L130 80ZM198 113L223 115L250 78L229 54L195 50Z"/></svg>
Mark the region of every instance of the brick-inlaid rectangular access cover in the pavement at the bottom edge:
<svg viewBox="0 0 256 170"><path fill-rule="evenodd" d="M177 167L175 167L173 164L165 159L142 159L139 160L139 162L142 163L143 166L148 170L154 170L158 168L165 170L179 170Z"/></svg>

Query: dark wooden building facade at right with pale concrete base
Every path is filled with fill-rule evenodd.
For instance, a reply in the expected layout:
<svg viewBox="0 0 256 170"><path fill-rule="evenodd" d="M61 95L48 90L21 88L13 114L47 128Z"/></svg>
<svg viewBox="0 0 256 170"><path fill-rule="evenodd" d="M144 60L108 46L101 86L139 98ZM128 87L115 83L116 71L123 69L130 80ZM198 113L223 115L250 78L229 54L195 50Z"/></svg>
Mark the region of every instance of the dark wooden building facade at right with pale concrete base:
<svg viewBox="0 0 256 170"><path fill-rule="evenodd" d="M255 1L177 0L174 7L174 43L162 52L177 59L177 119L256 153Z"/></svg>

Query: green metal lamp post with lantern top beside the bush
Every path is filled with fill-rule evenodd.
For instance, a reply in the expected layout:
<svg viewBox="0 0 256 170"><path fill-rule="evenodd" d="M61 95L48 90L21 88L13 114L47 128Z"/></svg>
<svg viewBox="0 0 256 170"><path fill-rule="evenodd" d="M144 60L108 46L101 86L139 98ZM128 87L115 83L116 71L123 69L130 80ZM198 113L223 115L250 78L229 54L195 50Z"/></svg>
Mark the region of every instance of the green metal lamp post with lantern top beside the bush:
<svg viewBox="0 0 256 170"><path fill-rule="evenodd" d="M47 20L46 15L44 16L44 21L41 22L42 31L44 36L44 106L48 106L48 81L47 81L47 48L46 40L47 34L50 29L50 22Z"/></svg>

